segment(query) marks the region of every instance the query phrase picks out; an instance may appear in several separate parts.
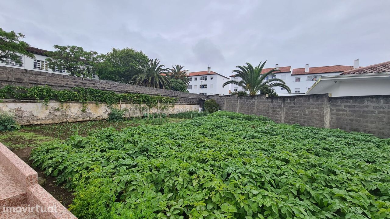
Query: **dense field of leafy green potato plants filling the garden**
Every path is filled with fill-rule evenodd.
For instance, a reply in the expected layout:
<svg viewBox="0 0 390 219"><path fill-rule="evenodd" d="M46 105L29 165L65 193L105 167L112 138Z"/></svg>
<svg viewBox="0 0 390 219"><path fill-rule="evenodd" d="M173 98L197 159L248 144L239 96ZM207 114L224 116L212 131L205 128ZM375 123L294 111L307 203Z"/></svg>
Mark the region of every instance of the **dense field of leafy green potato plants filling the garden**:
<svg viewBox="0 0 390 219"><path fill-rule="evenodd" d="M31 159L69 189L105 187L93 200L75 193L88 203L71 207L79 219L142 218L125 211L139 206L150 218L390 217L389 139L254 115L106 128L43 144Z"/></svg>

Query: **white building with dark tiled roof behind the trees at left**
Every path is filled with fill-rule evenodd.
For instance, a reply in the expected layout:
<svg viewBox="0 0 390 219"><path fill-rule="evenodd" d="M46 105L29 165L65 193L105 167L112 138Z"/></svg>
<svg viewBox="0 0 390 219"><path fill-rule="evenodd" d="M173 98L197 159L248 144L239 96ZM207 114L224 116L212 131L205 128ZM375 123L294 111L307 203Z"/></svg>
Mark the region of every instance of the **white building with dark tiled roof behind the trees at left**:
<svg viewBox="0 0 390 219"><path fill-rule="evenodd" d="M66 70L62 69L61 67L56 67L55 69L49 68L48 62L46 61L46 58L49 57L44 55L44 53L48 52L47 50L34 47L28 47L26 50L30 53L33 53L35 58L33 59L30 57L21 56L20 60L22 64L18 64L8 58L8 60L5 60L5 62L0 62L0 66L68 75L68 72L66 72ZM92 74L92 77L97 79L97 75L95 74Z"/></svg>

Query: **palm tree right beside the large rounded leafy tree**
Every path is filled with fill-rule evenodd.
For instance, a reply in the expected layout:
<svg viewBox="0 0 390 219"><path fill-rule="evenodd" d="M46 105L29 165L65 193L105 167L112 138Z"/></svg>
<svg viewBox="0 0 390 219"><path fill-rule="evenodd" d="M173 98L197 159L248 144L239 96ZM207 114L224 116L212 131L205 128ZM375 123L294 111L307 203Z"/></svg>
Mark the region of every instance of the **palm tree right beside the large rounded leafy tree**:
<svg viewBox="0 0 390 219"><path fill-rule="evenodd" d="M169 75L165 65L160 65L160 60L149 59L149 64L145 66L146 73L142 72L134 76L136 85L144 85L146 74L146 87L162 88L165 89L169 86Z"/></svg>

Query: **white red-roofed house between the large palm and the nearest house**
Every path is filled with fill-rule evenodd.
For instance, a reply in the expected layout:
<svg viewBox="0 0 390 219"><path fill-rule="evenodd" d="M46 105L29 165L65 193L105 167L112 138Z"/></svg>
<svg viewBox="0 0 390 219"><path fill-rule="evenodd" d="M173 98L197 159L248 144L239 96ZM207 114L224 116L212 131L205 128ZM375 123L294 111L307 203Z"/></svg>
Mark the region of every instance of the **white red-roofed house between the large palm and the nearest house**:
<svg viewBox="0 0 390 219"><path fill-rule="evenodd" d="M292 93L305 94L321 77L339 75L344 71L357 69L358 67L358 59L355 60L354 66L332 65L309 67L307 64L305 68L293 69L291 78L285 82L290 87Z"/></svg>

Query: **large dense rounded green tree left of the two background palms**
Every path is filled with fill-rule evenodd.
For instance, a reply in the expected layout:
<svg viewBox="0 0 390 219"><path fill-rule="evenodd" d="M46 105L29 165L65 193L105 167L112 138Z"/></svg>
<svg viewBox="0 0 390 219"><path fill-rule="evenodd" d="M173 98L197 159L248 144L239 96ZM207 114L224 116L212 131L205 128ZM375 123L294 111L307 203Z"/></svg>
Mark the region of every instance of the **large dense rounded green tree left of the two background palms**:
<svg viewBox="0 0 390 219"><path fill-rule="evenodd" d="M129 83L135 75L144 72L143 67L148 63L149 59L142 51L113 48L105 55L104 61L98 64L96 72L99 79Z"/></svg>

